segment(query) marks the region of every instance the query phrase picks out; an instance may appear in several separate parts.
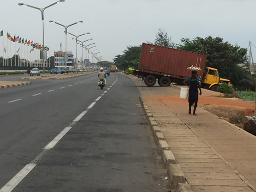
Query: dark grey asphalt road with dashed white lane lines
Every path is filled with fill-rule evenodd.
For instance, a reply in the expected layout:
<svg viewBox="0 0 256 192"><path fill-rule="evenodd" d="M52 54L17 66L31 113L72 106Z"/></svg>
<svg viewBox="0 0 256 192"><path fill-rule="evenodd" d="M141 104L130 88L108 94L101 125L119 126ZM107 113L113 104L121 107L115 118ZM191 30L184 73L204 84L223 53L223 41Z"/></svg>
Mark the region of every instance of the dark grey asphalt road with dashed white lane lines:
<svg viewBox="0 0 256 192"><path fill-rule="evenodd" d="M30 81L0 89L0 192L166 191L131 79Z"/></svg>

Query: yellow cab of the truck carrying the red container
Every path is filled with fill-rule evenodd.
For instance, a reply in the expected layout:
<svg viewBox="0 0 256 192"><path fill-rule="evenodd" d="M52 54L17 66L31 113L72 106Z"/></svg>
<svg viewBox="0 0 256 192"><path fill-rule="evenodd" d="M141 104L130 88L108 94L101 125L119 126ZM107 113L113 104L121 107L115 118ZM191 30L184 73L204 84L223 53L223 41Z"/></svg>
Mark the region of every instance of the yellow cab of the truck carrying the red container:
<svg viewBox="0 0 256 192"><path fill-rule="evenodd" d="M223 79L219 77L218 70L211 67L204 68L202 81L201 81L201 87L207 88L210 90L217 91L218 84L221 84L223 82L226 82L228 85L230 85L229 79Z"/></svg>

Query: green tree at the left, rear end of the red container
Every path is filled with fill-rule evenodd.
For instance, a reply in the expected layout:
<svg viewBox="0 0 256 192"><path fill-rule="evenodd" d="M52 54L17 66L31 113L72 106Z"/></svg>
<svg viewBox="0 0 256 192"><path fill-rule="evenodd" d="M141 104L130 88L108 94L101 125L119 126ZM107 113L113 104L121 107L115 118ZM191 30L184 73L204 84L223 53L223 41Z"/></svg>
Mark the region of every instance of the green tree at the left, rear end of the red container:
<svg viewBox="0 0 256 192"><path fill-rule="evenodd" d="M133 67L138 68L142 46L129 46L122 55L116 55L114 64L121 70Z"/></svg>

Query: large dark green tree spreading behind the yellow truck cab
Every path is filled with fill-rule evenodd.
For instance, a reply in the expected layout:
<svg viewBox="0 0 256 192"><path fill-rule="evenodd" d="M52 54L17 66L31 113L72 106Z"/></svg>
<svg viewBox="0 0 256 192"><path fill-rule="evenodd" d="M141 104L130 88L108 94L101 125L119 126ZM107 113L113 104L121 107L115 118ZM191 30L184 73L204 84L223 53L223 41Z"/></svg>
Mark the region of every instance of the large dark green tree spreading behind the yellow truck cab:
<svg viewBox="0 0 256 192"><path fill-rule="evenodd" d="M177 46L178 49L207 54L206 66L218 69L220 76L230 79L235 86L240 84L236 77L240 80L251 80L250 75L248 76L241 67L238 67L239 63L246 60L247 49L223 42L220 37L212 38L211 36L204 39L197 37L192 41L184 38L181 42L182 44Z"/></svg>

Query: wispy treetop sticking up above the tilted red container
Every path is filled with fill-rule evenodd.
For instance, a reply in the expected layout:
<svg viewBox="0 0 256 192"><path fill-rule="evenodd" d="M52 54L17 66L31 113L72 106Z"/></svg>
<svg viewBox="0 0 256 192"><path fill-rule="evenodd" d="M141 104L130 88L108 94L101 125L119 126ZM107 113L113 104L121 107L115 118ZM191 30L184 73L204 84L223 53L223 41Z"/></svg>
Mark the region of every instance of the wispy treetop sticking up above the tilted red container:
<svg viewBox="0 0 256 192"><path fill-rule="evenodd" d="M154 45L175 48L175 43L172 42L171 37L168 37L167 32L165 32L165 30L162 30L162 29L158 29L158 30L159 31L156 33L156 39L155 39Z"/></svg>

